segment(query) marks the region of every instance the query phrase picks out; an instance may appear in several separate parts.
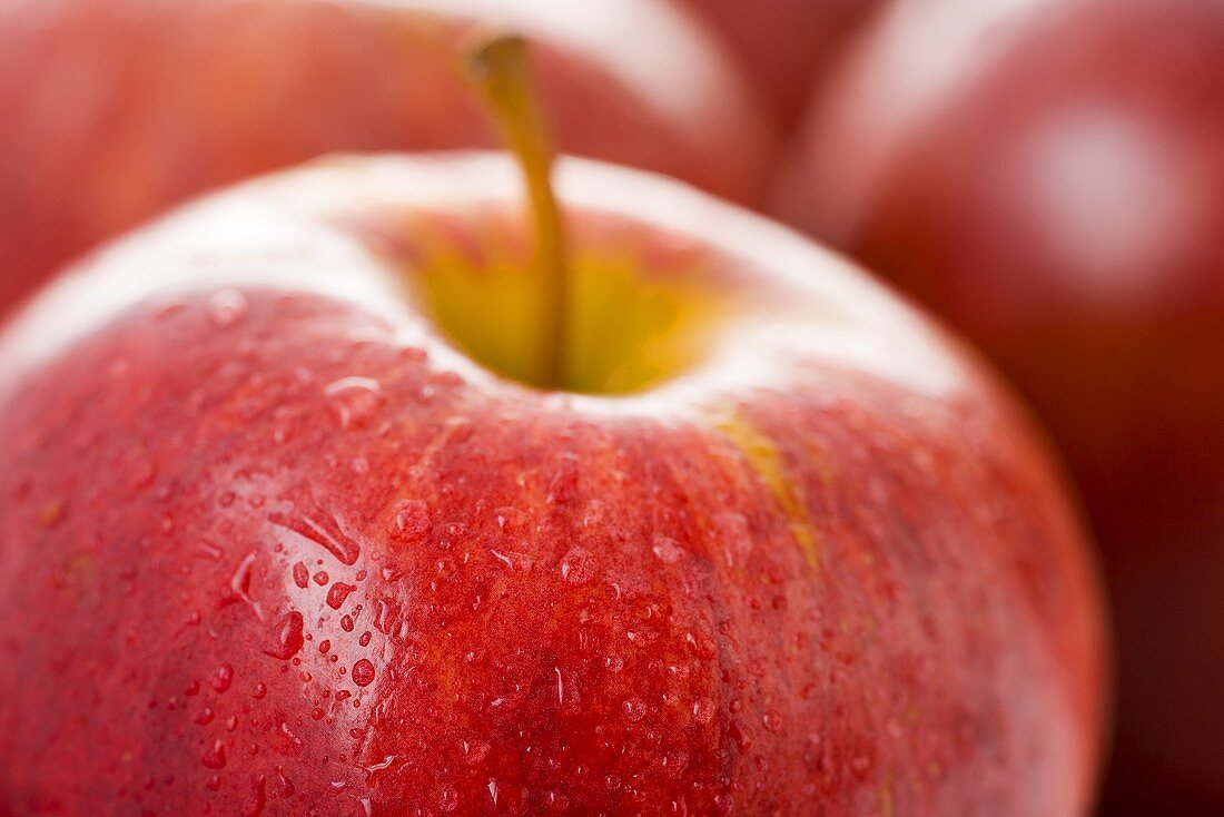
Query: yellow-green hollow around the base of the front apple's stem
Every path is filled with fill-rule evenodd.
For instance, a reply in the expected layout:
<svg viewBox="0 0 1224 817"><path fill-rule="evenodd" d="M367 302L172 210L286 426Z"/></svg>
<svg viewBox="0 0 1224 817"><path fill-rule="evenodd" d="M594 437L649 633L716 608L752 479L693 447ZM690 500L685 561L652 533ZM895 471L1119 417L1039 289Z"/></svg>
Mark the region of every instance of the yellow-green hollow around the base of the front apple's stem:
<svg viewBox="0 0 1224 817"><path fill-rule="evenodd" d="M649 390L701 363L722 314L700 271L645 273L627 249L619 257L575 252L569 263L565 355L550 382L537 331L553 309L537 273L510 254L481 263L433 247L410 272L411 289L450 342L504 377L591 394Z"/></svg>

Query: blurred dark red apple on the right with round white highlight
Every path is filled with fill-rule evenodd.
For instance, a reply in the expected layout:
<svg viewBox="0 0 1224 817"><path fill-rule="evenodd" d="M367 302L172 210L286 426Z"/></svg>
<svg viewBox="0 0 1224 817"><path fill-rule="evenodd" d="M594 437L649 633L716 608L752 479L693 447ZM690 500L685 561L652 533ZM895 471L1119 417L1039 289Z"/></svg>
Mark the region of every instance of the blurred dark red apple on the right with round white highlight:
<svg viewBox="0 0 1224 817"><path fill-rule="evenodd" d="M1224 813L1224 4L990 5L884 21L782 209L1036 403L1106 551L1110 807Z"/></svg>

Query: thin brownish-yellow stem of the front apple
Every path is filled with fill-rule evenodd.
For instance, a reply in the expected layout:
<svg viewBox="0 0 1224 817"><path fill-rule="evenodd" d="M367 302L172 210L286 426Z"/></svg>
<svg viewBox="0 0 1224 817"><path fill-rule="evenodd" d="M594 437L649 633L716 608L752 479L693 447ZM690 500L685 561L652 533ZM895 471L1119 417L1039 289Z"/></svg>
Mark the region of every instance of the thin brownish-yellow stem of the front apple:
<svg viewBox="0 0 1224 817"><path fill-rule="evenodd" d="M498 36L479 45L469 59L472 83L502 138L518 158L535 217L536 266L541 273L543 320L540 331L545 388L564 382L569 322L569 265L565 228L552 187L553 151L531 81L529 45L517 36Z"/></svg>

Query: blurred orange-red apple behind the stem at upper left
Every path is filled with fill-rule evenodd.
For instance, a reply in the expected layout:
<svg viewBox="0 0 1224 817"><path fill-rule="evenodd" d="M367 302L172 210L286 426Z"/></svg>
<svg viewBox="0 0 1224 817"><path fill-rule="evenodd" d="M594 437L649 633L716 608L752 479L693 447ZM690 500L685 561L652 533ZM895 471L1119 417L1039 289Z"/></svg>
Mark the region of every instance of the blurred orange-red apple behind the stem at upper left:
<svg viewBox="0 0 1224 817"><path fill-rule="evenodd" d="M563 149L761 203L767 113L662 0L9 0L0 310L202 190L337 149L496 145L461 50L501 29L532 40Z"/></svg>

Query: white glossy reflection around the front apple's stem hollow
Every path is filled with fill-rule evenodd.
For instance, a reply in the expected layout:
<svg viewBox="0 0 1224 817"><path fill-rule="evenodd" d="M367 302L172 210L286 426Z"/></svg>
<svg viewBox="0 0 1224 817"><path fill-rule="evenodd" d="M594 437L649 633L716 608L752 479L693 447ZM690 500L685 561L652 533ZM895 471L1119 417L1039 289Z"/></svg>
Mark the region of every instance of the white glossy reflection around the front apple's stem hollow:
<svg viewBox="0 0 1224 817"><path fill-rule="evenodd" d="M561 160L557 186L572 213L617 214L640 222L644 232L709 247L752 292L694 370L639 394L558 393L551 398L558 404L600 414L689 414L720 402L718 394L785 390L800 370L823 365L865 370L935 396L971 382L939 331L791 230L674 181L585 159ZM427 349L439 366L482 388L521 388L439 337L386 261L328 223L355 209L464 213L520 196L508 157L454 153L329 158L207 197L104 249L20 312L0 336L0 391L147 299L244 285L351 303L394 327L395 337L386 331L388 341Z"/></svg>

